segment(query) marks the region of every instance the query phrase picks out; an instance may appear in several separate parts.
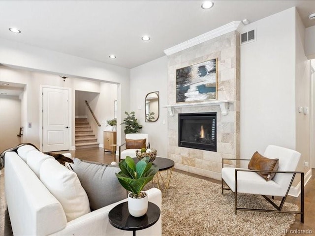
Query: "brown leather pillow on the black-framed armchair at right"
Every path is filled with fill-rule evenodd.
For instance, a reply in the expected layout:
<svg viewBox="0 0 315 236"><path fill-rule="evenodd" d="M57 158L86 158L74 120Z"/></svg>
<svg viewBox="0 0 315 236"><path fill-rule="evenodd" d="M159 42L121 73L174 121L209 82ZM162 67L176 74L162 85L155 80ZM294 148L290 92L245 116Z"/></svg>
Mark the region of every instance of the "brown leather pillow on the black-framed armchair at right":
<svg viewBox="0 0 315 236"><path fill-rule="evenodd" d="M248 163L248 169L250 170L256 170L256 171L276 171L279 167L279 159L269 159L267 157L264 157L256 151L252 155L252 159L250 163ZM272 179L276 173L270 173L270 172L256 172L258 175L266 179L268 181L269 179Z"/></svg>

